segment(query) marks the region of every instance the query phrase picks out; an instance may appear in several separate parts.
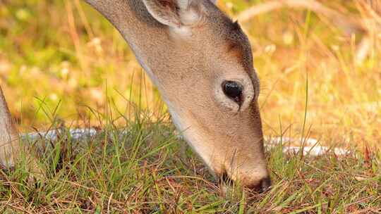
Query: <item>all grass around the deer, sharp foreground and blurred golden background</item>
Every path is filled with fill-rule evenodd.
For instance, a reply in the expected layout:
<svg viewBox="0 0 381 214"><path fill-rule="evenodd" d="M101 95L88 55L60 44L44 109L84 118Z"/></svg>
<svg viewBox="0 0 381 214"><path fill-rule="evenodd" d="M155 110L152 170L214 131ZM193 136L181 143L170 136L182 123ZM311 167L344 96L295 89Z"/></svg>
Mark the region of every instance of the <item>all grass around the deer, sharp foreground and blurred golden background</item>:
<svg viewBox="0 0 381 214"><path fill-rule="evenodd" d="M219 6L234 16L262 2ZM355 1L322 2L356 20L370 18ZM353 153L306 158L272 148L269 193L243 194L237 187L224 195L191 151L189 163L181 162L156 89L104 18L79 0L0 0L0 84L20 129L44 130L65 120L66 127L104 130L80 146L62 139L42 149L49 171L44 184L23 182L23 165L3 173L2 213L381 212L377 32L359 63L363 34L346 36L310 11L265 13L244 27L262 84L265 135L314 137ZM119 139L123 129L129 134Z"/></svg>

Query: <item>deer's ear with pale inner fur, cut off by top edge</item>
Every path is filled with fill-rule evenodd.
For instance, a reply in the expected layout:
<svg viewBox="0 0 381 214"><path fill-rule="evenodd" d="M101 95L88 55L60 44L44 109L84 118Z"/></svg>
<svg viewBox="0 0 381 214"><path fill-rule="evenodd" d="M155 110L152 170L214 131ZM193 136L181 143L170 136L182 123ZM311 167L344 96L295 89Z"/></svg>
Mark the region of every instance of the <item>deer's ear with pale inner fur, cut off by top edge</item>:
<svg viewBox="0 0 381 214"><path fill-rule="evenodd" d="M153 18L171 27L190 25L198 20L200 14L191 6L197 4L197 1L199 0L143 0Z"/></svg>

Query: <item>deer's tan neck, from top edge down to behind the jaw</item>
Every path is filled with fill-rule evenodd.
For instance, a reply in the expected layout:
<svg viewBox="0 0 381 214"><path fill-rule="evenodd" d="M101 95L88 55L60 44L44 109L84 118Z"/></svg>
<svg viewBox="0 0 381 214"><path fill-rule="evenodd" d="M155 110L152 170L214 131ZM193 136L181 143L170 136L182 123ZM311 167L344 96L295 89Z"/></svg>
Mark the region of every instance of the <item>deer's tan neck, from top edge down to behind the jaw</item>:
<svg viewBox="0 0 381 214"><path fill-rule="evenodd" d="M152 18L140 0L86 1L119 30L152 82L161 89L161 70L170 60L168 56L173 55L169 53L167 28Z"/></svg>

